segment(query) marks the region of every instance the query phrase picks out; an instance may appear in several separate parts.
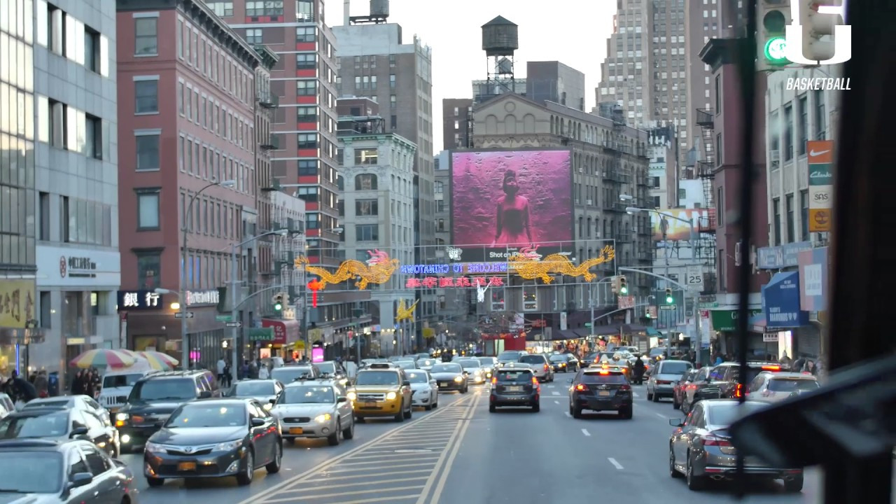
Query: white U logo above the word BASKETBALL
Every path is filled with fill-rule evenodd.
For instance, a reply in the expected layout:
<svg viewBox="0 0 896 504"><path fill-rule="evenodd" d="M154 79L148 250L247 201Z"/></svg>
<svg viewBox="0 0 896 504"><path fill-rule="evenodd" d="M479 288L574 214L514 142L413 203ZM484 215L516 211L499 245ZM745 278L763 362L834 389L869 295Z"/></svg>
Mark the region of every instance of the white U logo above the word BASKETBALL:
<svg viewBox="0 0 896 504"><path fill-rule="evenodd" d="M843 0L793 0L798 24L788 24L787 58L800 65L835 65L852 57L852 27L843 24ZM824 12L822 12L824 11ZM825 35L833 41L822 40Z"/></svg>

